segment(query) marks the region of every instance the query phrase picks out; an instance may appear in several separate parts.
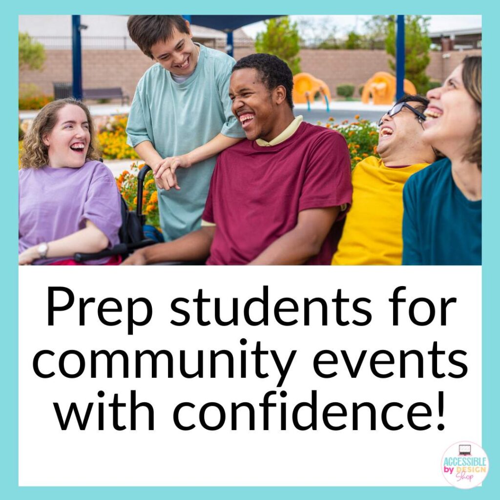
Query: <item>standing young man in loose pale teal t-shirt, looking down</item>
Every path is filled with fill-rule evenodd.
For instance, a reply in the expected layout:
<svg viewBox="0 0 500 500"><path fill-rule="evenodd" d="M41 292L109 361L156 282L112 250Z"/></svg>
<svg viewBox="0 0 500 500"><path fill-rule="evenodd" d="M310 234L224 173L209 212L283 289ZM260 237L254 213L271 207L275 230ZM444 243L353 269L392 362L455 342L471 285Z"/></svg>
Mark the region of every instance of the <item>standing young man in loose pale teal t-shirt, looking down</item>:
<svg viewBox="0 0 500 500"><path fill-rule="evenodd" d="M216 155L244 137L228 91L235 61L193 43L179 15L132 15L128 32L156 64L137 84L127 143L154 171L161 229L171 241L199 229Z"/></svg>

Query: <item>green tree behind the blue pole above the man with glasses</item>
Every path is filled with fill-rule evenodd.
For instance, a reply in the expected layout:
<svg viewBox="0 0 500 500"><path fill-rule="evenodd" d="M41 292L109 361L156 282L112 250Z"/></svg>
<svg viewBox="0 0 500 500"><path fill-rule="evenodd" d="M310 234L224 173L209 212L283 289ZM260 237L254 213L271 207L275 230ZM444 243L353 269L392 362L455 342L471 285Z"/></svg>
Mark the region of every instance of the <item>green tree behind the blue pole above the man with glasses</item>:
<svg viewBox="0 0 500 500"><path fill-rule="evenodd" d="M395 21L395 16L392 16ZM404 50L405 78L410 80L416 87L417 92L424 94L428 90L429 77L425 69L430 62L429 48L431 40L427 36L430 17L423 15L406 15L404 17ZM385 50L389 55L395 57L396 32L395 22L387 22L387 33L385 37ZM395 63L389 59L389 66L395 70Z"/></svg>

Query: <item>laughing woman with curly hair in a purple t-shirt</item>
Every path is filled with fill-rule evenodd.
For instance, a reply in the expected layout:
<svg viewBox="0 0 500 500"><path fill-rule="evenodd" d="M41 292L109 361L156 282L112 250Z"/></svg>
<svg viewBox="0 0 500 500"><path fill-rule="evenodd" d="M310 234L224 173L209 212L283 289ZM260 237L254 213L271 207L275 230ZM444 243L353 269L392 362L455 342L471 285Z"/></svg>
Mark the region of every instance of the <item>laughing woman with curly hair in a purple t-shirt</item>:
<svg viewBox="0 0 500 500"><path fill-rule="evenodd" d="M98 161L88 108L50 102L24 138L19 170L19 264L74 264L75 252L118 243L120 195ZM106 264L109 258L87 264Z"/></svg>

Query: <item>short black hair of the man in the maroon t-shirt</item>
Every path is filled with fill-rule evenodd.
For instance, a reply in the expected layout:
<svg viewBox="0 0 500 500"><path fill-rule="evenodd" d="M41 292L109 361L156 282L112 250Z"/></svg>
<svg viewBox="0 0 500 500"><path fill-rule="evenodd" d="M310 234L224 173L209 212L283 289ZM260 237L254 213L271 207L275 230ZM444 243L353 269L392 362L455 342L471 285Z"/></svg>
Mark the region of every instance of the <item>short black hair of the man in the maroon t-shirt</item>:
<svg viewBox="0 0 500 500"><path fill-rule="evenodd" d="M262 83L269 90L274 90L277 86L282 85L286 90L286 102L293 109L293 100L291 99L293 75L286 62L271 54L250 54L241 57L234 64L232 72L245 68L255 69Z"/></svg>

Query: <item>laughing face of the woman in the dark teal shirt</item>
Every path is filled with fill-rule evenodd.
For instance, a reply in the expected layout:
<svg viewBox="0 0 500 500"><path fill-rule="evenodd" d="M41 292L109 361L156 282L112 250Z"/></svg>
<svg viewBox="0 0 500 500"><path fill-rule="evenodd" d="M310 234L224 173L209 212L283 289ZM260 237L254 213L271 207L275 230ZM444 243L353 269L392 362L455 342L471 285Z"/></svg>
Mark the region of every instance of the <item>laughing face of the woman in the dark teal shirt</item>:
<svg viewBox="0 0 500 500"><path fill-rule="evenodd" d="M442 87L427 92L423 139L446 156L468 148L480 111L462 81L462 64L446 78Z"/></svg>

